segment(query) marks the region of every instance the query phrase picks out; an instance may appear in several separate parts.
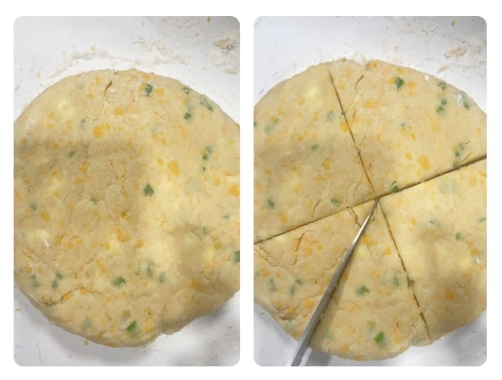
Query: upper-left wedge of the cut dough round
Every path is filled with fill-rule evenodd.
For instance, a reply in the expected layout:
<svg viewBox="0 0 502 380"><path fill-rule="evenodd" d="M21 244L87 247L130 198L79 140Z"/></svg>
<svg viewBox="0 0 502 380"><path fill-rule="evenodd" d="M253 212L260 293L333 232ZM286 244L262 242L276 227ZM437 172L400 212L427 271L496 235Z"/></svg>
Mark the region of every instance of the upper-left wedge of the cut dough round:
<svg viewBox="0 0 502 380"><path fill-rule="evenodd" d="M326 64L255 107L255 240L372 197Z"/></svg>

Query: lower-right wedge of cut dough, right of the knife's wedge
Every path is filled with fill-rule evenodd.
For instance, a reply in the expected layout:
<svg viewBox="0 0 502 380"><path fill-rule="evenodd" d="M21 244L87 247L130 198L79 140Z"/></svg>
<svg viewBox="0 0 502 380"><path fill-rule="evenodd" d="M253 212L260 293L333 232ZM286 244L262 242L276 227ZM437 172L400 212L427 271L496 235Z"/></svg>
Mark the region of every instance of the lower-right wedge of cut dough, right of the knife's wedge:
<svg viewBox="0 0 502 380"><path fill-rule="evenodd" d="M431 338L474 320L486 308L486 160L381 202Z"/></svg>

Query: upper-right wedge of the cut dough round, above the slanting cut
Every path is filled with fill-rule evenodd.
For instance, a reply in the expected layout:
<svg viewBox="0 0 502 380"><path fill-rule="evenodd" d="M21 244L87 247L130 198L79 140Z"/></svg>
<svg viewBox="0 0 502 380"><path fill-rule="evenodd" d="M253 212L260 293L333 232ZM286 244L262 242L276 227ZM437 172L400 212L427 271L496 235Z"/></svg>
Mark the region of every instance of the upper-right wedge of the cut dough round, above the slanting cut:
<svg viewBox="0 0 502 380"><path fill-rule="evenodd" d="M353 73L351 83L361 74ZM381 61L362 73L342 106L377 196L486 154L486 115L463 91Z"/></svg>

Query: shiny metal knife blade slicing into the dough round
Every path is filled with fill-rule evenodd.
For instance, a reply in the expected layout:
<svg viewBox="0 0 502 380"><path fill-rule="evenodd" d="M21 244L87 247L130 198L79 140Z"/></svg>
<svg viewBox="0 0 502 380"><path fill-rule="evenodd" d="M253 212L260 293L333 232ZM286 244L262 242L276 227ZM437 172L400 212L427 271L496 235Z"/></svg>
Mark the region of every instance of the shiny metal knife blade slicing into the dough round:
<svg viewBox="0 0 502 380"><path fill-rule="evenodd" d="M366 219L364 219L364 222L362 222L359 231L357 231L354 240L352 240L352 244L350 244L350 247L348 247L347 251L343 255L340 265L338 266L338 269L336 269L335 274L333 274L333 277L331 278L331 282L329 283L326 292L324 292L324 295L322 296L321 301L317 305L314 314L312 314L312 318L310 318L309 324L303 331L302 337L298 341L295 354L293 355L293 359L290 361L288 366L299 366L300 363L302 362L303 355L305 355L305 351L307 351L310 339L312 338L312 335L314 335L314 331L319 322L321 321L321 318L323 317L324 311L328 306L328 301L331 299L331 296L333 295L336 286L338 285L338 281L340 280L343 270L347 266L350 256L352 256L352 252L354 251L355 245L357 244L357 241L359 240L362 231L364 231L364 228L368 224L369 218L376 209L376 205L378 205L378 200L375 201L373 207L371 208L371 211L369 212Z"/></svg>

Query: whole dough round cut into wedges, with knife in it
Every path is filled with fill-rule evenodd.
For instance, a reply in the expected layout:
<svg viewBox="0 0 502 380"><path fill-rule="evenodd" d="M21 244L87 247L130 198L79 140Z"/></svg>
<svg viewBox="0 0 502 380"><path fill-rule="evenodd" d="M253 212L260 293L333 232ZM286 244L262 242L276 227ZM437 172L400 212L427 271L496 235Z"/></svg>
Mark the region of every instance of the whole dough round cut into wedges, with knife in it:
<svg viewBox="0 0 502 380"><path fill-rule="evenodd" d="M255 301L298 339L380 198L311 345L385 359L472 321L485 155L486 115L431 75L339 60L279 83L255 107Z"/></svg>

